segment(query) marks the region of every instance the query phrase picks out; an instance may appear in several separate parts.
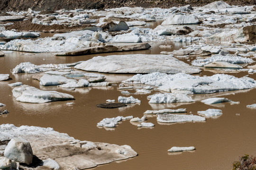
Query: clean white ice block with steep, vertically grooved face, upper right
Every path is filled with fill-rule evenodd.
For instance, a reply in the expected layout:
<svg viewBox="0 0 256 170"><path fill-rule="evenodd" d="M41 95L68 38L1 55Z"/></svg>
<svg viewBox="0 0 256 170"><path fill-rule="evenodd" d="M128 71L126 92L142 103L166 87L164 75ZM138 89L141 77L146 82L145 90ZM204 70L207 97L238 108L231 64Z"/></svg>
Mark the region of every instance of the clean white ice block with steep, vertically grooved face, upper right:
<svg viewBox="0 0 256 170"><path fill-rule="evenodd" d="M199 22L194 15L171 15L161 25L198 24Z"/></svg>

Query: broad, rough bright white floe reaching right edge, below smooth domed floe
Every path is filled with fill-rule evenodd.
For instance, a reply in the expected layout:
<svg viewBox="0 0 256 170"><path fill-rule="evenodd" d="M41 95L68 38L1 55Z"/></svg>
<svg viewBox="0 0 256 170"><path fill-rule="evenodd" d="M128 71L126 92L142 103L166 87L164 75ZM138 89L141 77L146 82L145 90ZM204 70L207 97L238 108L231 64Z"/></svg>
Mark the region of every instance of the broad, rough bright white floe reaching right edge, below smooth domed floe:
<svg viewBox="0 0 256 170"><path fill-rule="evenodd" d="M256 87L256 81L249 77L237 78L235 76L216 74L213 76L192 76L178 73L168 75L165 73L137 74L123 83L146 84L158 87L158 90L172 93L216 93L230 90L242 90Z"/></svg>

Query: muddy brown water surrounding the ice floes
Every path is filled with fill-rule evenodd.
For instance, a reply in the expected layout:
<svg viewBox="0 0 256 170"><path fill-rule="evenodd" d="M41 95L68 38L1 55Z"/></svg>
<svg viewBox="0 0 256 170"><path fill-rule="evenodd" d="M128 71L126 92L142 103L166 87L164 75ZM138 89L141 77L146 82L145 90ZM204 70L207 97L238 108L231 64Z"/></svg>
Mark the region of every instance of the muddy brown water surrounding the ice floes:
<svg viewBox="0 0 256 170"><path fill-rule="evenodd" d="M174 49L182 47L182 43L165 42L154 43L153 48L145 51L130 51L125 53L107 53L88 56L56 57L53 54L21 55L25 52L14 52L0 58L0 73L10 74L10 70L19 63L29 61L34 64L73 63L91 59L93 56L107 56L111 54L159 54L168 49L157 48L162 44L174 45ZM169 50L170 51L170 50ZM187 59L184 59L186 61ZM192 61L192 59L191 59ZM188 61L186 61L188 62ZM212 69L203 70L200 74L211 76L215 74ZM229 73L234 76L246 76L247 72ZM128 79L133 75L105 74L108 81ZM256 155L255 121L256 110L249 109L248 104L256 103L256 88L241 91L231 91L214 94L197 94L192 97L196 100L223 96L240 104L231 105L229 102L206 105L201 102L149 104L148 94L132 94L141 100L141 104L128 104L128 107L116 109L102 109L96 104L107 99L118 99L123 95L118 86L111 87L85 87L76 88L75 91L65 91L56 86L41 86L37 80L31 78L32 74L11 75L8 81L0 82L0 102L6 104L0 109L9 110L9 114L0 116L0 124L11 123L16 126L28 125L39 127L53 127L56 131L67 133L79 140L105 142L111 144L128 144L138 156L132 159L117 161L96 167L96 170L230 170L232 162L238 160L240 155ZM255 75L249 75L256 79ZM56 90L69 93L75 97L73 101L24 103L17 102L12 96L8 84L22 82L42 90ZM130 92L134 93L135 90ZM156 93L154 91L153 93ZM67 102L74 102L68 106ZM175 124L160 124L156 116L148 116L147 122L155 124L153 128L138 128L129 120L122 121L116 128L99 128L97 123L104 118L117 116L142 117L146 110L186 108L187 113L197 115L199 110L221 109L223 115L218 118L209 118L205 122L187 122ZM236 114L240 114L237 116ZM168 153L173 146L194 146L195 151L183 153ZM74 160L75 161L75 160Z"/></svg>

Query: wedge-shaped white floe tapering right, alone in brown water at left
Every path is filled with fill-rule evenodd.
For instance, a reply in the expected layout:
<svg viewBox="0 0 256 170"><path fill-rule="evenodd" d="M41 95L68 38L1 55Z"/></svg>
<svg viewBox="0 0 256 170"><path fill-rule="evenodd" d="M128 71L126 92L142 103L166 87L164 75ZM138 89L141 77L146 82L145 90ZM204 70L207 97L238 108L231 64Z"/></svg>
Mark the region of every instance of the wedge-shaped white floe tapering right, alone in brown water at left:
<svg viewBox="0 0 256 170"><path fill-rule="evenodd" d="M45 103L60 100L70 100L74 97L70 94L56 91L43 91L29 85L22 85L12 89L12 94L19 102Z"/></svg>

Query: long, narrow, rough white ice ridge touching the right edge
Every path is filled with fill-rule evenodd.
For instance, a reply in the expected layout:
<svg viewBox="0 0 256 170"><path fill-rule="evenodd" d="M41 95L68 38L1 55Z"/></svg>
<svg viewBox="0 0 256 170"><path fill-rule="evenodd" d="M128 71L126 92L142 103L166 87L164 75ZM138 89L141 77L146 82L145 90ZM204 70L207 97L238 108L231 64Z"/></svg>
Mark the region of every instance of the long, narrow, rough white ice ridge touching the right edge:
<svg viewBox="0 0 256 170"><path fill-rule="evenodd" d="M205 66L207 64L210 64L212 62L216 61L226 61L232 64L243 64L243 63L253 63L255 62L253 59L250 58L244 58L240 56L234 56L234 55L213 55L206 59L195 59L192 61L193 66Z"/></svg>

